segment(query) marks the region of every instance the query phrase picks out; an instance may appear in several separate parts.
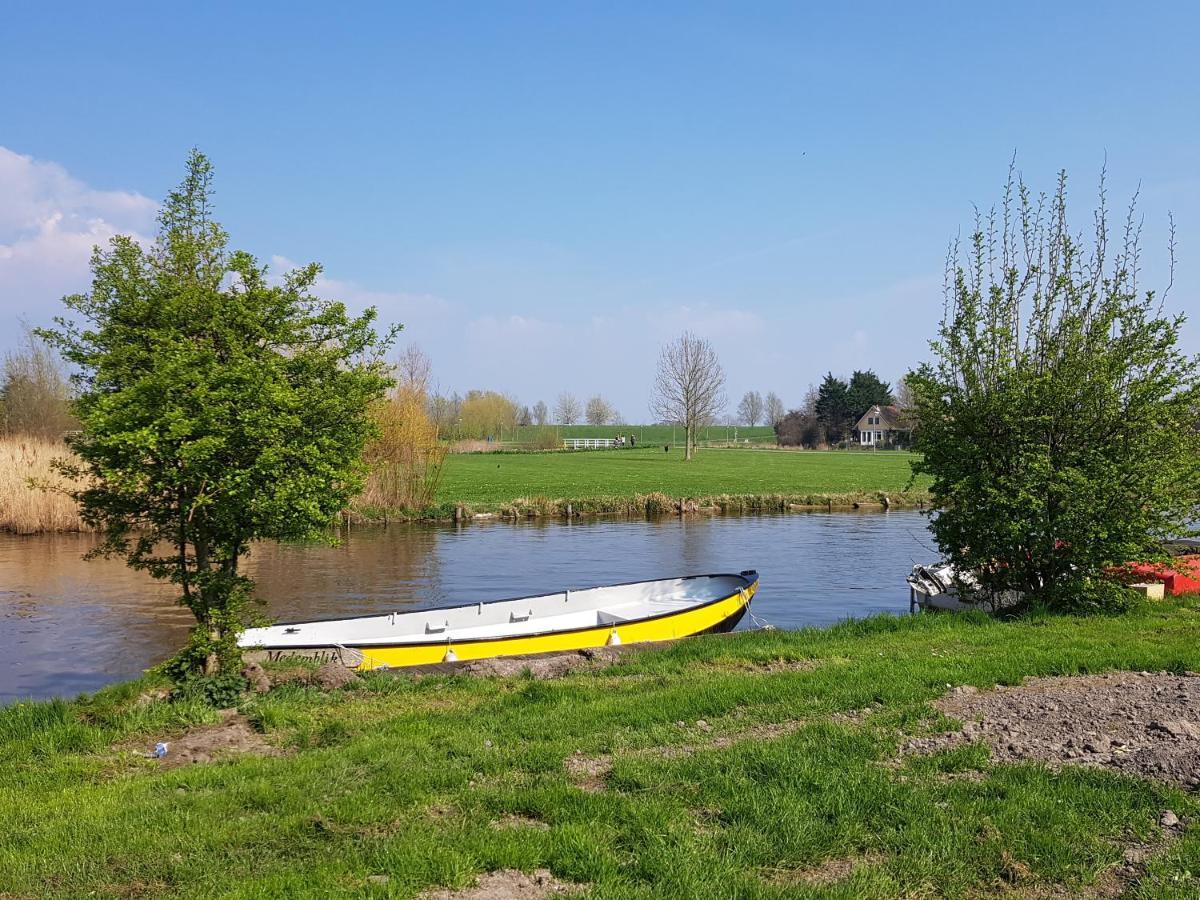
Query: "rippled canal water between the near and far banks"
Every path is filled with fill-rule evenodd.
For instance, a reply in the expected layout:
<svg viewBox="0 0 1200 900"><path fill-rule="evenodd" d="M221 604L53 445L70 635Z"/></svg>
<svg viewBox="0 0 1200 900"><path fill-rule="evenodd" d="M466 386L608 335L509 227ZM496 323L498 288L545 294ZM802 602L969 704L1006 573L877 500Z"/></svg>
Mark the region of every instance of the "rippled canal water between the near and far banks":
<svg viewBox="0 0 1200 900"><path fill-rule="evenodd" d="M191 613L173 588L85 562L91 544L0 534L0 703L92 691L182 643ZM288 620L757 569L755 616L799 628L906 612L905 575L931 545L913 511L414 524L352 530L336 547L260 545L247 574Z"/></svg>

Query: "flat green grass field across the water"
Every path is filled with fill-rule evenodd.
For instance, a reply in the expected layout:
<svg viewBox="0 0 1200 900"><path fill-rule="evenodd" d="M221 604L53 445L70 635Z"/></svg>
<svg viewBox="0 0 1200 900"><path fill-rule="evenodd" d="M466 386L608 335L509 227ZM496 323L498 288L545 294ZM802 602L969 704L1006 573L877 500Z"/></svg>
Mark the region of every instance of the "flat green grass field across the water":
<svg viewBox="0 0 1200 900"><path fill-rule="evenodd" d="M443 503L499 504L518 497L670 497L716 494L899 493L912 454L900 451L701 450L661 446L556 454L454 454L446 457ZM924 487L924 482L916 485Z"/></svg>

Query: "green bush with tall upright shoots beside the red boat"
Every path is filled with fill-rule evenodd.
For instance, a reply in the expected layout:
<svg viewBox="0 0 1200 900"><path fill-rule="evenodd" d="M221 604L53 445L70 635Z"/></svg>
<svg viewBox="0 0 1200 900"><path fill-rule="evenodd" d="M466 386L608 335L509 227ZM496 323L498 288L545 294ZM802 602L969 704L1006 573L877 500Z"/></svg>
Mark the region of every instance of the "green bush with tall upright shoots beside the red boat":
<svg viewBox="0 0 1200 900"><path fill-rule="evenodd" d="M1162 558L1200 508L1198 360L1183 317L1138 284L1135 203L1114 239L1100 185L1085 241L1066 174L1034 198L1010 173L952 250L932 361L907 378L942 552L984 593L1060 608L1120 596L1104 572Z"/></svg>

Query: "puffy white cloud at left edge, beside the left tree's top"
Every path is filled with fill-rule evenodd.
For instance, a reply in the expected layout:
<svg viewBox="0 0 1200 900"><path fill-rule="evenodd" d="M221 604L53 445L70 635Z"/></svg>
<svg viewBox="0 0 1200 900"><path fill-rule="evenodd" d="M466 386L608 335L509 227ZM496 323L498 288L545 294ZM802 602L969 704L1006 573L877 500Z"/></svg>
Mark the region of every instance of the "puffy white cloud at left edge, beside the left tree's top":
<svg viewBox="0 0 1200 900"><path fill-rule="evenodd" d="M132 191L97 191L53 162L0 146L0 343L18 317L49 318L89 283L92 247L115 234L144 239L157 205Z"/></svg>

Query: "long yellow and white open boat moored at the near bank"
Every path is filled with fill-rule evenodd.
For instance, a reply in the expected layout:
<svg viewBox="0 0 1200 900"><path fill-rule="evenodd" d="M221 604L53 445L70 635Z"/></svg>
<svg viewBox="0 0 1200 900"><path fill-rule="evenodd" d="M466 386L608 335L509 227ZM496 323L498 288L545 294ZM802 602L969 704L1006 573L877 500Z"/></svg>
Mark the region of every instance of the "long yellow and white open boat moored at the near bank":
<svg viewBox="0 0 1200 900"><path fill-rule="evenodd" d="M563 653L732 630L758 572L692 575L468 606L292 622L242 632L262 658L337 660L355 668L430 666Z"/></svg>

